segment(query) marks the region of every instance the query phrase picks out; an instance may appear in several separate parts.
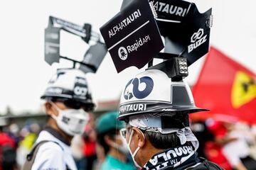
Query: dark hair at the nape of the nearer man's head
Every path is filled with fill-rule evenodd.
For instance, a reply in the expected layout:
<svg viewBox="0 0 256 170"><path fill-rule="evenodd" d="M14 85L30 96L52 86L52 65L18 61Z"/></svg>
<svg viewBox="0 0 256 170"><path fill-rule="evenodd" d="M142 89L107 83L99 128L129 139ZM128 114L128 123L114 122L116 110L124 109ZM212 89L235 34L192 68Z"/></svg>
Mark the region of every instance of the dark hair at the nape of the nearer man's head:
<svg viewBox="0 0 256 170"><path fill-rule="evenodd" d="M151 132L142 130L146 139L151 142L156 149L169 149L171 147L178 147L181 142L176 135L176 132L169 134L161 134L160 132Z"/></svg>

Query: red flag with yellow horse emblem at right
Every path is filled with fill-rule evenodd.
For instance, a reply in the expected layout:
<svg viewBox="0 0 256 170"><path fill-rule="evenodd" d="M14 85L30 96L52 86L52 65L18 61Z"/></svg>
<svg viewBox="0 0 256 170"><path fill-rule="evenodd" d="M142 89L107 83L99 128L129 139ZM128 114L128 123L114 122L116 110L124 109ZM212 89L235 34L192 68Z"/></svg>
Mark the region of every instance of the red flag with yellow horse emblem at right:
<svg viewBox="0 0 256 170"><path fill-rule="evenodd" d="M249 69L211 47L192 91L196 106L210 111L191 114L191 118L221 114L256 123L255 77Z"/></svg>

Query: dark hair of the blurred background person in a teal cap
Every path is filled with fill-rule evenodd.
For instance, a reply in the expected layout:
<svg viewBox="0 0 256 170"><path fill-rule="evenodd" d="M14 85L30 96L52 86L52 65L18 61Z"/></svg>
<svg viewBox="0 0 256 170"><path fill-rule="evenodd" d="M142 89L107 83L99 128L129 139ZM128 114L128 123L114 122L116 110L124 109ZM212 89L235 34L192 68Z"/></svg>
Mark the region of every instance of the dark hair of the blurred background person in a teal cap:
<svg viewBox="0 0 256 170"><path fill-rule="evenodd" d="M97 142L103 147L105 155L106 155L107 152L110 151L110 146L107 145L107 143L105 142L105 139L104 139L105 135L110 137L111 140L114 140L114 136L117 135L117 130L112 129L112 130L109 130L109 131L104 132L102 134L97 134Z"/></svg>

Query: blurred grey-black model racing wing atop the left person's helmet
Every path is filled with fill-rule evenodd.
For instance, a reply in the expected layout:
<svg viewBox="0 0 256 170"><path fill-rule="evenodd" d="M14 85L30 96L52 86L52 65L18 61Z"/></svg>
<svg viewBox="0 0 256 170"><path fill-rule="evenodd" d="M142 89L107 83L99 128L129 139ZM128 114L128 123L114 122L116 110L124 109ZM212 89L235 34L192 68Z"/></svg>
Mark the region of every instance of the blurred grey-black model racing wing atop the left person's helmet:
<svg viewBox="0 0 256 170"><path fill-rule="evenodd" d="M93 42L93 45L89 44L90 47L85 52L82 61L60 55L60 30L77 35L87 44ZM95 73L106 53L107 49L104 42L100 40L100 34L92 31L90 23L79 26L75 23L49 16L48 28L45 29L45 61L48 64L59 62L61 58L73 62L73 68L75 68L76 64L80 64L79 69L83 72Z"/></svg>

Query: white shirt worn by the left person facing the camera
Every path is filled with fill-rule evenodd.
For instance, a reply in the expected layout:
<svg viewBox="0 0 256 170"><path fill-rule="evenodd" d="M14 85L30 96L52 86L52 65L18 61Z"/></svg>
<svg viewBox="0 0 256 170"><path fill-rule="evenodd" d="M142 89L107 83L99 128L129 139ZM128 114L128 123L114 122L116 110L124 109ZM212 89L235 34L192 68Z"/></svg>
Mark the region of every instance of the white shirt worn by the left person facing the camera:
<svg viewBox="0 0 256 170"><path fill-rule="evenodd" d="M69 169L77 170L70 146L58 140L46 130L40 132L36 143L43 140L54 142L46 142L39 147L32 170L65 170L66 165Z"/></svg>

